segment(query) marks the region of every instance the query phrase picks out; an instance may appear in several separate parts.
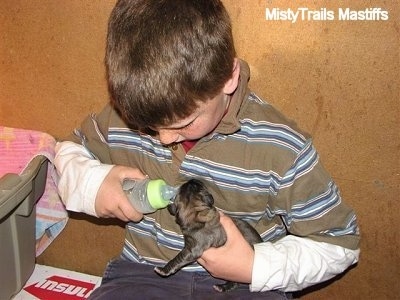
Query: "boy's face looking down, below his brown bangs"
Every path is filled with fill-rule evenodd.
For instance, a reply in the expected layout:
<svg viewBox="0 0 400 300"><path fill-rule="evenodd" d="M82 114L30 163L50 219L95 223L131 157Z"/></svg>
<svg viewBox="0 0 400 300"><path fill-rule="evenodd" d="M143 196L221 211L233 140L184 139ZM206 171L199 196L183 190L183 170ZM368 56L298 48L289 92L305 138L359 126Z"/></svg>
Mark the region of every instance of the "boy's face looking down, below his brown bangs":
<svg viewBox="0 0 400 300"><path fill-rule="evenodd" d="M221 92L207 102L199 102L190 116L169 126L151 129L158 132L158 138L164 145L200 139L217 127L225 115L229 101L230 97Z"/></svg>

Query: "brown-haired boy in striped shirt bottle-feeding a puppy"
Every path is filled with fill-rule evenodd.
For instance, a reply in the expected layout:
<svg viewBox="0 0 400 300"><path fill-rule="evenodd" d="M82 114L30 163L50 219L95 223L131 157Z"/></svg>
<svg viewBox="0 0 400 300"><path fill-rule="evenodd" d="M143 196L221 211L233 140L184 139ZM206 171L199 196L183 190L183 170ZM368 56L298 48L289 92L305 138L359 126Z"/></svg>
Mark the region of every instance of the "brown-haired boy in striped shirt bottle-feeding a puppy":
<svg viewBox="0 0 400 300"><path fill-rule="evenodd" d="M133 221L93 298L284 299L358 261L353 210L311 138L249 91L220 1L118 1L106 67L111 104L59 143L55 160L67 209ZM158 277L154 266L183 240L167 210L143 216L129 204L123 179L145 176L174 186L205 181L227 243ZM247 220L264 242L253 250L228 216ZM250 286L218 294L205 270Z"/></svg>

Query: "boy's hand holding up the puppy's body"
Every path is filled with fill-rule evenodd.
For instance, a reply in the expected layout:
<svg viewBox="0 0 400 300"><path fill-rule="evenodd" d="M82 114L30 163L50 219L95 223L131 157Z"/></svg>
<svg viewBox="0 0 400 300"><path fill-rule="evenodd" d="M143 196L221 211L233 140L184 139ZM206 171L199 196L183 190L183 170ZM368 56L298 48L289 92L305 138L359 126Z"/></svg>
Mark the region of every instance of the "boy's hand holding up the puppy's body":
<svg viewBox="0 0 400 300"><path fill-rule="evenodd" d="M250 283L253 270L254 250L231 218L221 215L221 224L227 234L225 245L210 248L197 260L214 277L224 280Z"/></svg>

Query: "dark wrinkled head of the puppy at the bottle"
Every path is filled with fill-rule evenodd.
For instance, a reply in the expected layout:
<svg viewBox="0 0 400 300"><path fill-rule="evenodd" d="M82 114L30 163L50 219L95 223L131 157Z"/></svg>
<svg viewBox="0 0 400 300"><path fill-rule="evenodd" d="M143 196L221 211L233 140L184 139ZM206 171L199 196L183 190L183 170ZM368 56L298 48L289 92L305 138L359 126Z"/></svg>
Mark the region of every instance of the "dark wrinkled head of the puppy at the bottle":
<svg viewBox="0 0 400 300"><path fill-rule="evenodd" d="M168 206L168 211L175 216L176 223L181 228L195 228L218 220L219 215L213 204L214 198L204 183L191 179L179 188L174 203Z"/></svg>

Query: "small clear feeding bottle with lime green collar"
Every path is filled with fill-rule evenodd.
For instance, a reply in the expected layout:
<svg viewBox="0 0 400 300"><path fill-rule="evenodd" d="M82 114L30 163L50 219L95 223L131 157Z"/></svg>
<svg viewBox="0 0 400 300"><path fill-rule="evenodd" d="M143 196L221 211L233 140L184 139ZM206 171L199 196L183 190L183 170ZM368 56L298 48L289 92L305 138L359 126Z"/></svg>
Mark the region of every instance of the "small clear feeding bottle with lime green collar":
<svg viewBox="0 0 400 300"><path fill-rule="evenodd" d="M143 214L166 207L177 193L177 188L167 185L162 179L125 179L122 183L133 207Z"/></svg>

